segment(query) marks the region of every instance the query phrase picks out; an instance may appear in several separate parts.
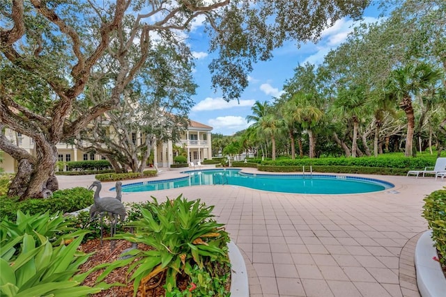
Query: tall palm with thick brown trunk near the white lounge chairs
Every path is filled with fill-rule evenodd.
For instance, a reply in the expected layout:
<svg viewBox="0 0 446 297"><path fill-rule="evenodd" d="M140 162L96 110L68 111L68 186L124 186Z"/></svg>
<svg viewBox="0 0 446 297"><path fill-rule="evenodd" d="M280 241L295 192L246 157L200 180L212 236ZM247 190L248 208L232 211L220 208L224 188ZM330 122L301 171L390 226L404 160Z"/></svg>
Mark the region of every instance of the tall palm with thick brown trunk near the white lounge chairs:
<svg viewBox="0 0 446 297"><path fill-rule="evenodd" d="M427 63L409 64L399 67L390 74L387 82L387 95L399 102L399 107L406 113L407 134L405 156L412 155L415 113L413 96L425 88L435 85L441 78L441 72Z"/></svg>

